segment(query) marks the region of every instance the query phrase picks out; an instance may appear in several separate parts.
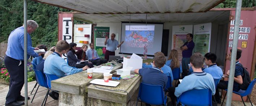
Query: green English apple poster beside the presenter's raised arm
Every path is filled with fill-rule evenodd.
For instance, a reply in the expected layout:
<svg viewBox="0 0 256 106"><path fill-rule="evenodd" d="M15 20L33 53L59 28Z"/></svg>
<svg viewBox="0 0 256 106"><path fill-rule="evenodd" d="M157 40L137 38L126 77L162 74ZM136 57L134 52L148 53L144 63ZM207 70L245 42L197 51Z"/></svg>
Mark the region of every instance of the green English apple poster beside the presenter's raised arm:
<svg viewBox="0 0 256 106"><path fill-rule="evenodd" d="M106 37L109 37L109 27L94 27L94 48L101 59L104 59L107 51L104 45Z"/></svg>

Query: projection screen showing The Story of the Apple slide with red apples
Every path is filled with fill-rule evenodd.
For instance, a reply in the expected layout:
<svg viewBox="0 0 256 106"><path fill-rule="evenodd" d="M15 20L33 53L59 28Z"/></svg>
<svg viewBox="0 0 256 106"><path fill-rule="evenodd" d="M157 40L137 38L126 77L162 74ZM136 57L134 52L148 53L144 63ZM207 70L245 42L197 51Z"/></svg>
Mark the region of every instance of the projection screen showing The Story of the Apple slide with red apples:
<svg viewBox="0 0 256 106"><path fill-rule="evenodd" d="M163 24L122 23L120 53L147 55L161 51Z"/></svg>

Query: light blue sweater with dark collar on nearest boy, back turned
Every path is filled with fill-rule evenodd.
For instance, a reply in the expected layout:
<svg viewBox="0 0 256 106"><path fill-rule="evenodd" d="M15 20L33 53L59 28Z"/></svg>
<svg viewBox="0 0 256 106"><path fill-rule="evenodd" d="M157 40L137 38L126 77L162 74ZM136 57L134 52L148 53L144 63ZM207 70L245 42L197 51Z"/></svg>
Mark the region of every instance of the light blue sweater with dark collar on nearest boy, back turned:
<svg viewBox="0 0 256 106"><path fill-rule="evenodd" d="M212 95L214 95L215 86L212 75L205 72L191 73L190 75L184 77L179 86L175 88L174 95L179 97L183 92L191 89L209 89L212 91Z"/></svg>

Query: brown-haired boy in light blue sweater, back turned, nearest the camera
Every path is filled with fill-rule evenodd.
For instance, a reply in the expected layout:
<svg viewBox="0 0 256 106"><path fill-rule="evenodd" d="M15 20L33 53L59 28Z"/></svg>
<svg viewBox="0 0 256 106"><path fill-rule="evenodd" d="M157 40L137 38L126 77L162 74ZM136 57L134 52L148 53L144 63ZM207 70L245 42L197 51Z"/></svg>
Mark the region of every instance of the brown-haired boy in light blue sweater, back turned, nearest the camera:
<svg viewBox="0 0 256 106"><path fill-rule="evenodd" d="M200 54L194 54L190 57L190 65L193 72L184 77L178 87L170 87L169 94L172 99L173 105L175 105L176 97L181 96L183 92L191 89L210 89L212 95L215 94L215 86L212 75L202 71L201 67L204 64L204 57Z"/></svg>

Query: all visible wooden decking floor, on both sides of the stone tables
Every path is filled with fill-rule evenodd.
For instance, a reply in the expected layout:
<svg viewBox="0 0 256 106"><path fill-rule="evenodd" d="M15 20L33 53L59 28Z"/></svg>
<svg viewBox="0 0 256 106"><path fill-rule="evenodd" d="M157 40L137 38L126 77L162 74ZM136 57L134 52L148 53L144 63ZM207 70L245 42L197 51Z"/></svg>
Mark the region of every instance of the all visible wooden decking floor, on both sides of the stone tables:
<svg viewBox="0 0 256 106"><path fill-rule="evenodd" d="M29 82L28 85L27 85L28 86L28 89L27 89L28 90L28 95L30 97L30 100L28 101L29 106L40 106L43 102L43 99L44 99L46 93L47 93L47 88L39 87L38 91L35 95L35 98L34 98L33 102L31 103L31 100L32 100L32 98L35 94L36 88L38 87L38 86L36 86L36 88L32 92L32 95L30 95L33 87L35 86L35 83L36 83L36 81L32 81L32 82ZM9 86L8 85L0 86L0 106L5 105L5 97L8 93L8 91L9 91ZM24 91L24 86L23 86L23 88L21 90L21 95L22 96L24 96L24 92L25 91ZM170 98L169 98L169 100L170 100ZM224 101L223 106L225 106L225 102L226 102L226 100ZM45 106L58 106L58 100L54 100L53 98L48 96ZM132 106L136 106L136 102L134 102ZM140 102L138 102L138 106L140 106ZM146 106L145 103L142 103L142 106ZM221 106L221 104L218 104L218 106ZM243 102L241 102L241 101L232 101L231 106L244 106L244 105L243 105ZM246 106L251 106L251 103L246 102ZM255 106L255 105L253 104L253 106Z"/></svg>

